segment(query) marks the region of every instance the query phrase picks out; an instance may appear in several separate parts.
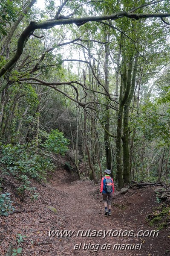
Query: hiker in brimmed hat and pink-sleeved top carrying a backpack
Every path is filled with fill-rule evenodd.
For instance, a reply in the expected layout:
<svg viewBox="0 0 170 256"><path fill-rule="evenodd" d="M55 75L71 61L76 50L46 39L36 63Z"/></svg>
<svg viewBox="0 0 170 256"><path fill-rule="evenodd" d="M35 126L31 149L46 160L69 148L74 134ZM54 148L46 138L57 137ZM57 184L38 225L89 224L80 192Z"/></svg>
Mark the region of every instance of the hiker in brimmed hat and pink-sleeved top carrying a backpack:
<svg viewBox="0 0 170 256"><path fill-rule="evenodd" d="M113 179L109 176L111 173L110 170L104 171L106 174L101 179L101 189L100 192L103 195L103 201L104 201L104 215L111 215L111 203L112 203L112 194L114 193L114 183ZM108 203L108 209L107 209L107 203Z"/></svg>

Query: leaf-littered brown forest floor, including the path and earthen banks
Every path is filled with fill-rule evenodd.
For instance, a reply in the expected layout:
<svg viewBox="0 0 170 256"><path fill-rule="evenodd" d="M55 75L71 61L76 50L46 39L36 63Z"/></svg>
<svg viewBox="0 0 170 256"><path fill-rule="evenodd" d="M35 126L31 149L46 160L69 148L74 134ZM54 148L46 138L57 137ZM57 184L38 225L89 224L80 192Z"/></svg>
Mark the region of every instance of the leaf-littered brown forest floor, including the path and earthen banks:
<svg viewBox="0 0 170 256"><path fill-rule="evenodd" d="M156 187L133 188L124 195L115 191L112 215L105 217L100 185L71 179L67 182L64 175L58 178L57 173L46 187L33 184L40 194L38 200L26 198L26 203L20 203L13 197L15 208L25 211L0 217L0 256L9 248L14 252L20 247L22 253L17 255L24 256L170 255L170 228L154 237L151 231L157 228L146 221L158 206ZM52 230L58 230L58 234L49 237ZM64 230L72 231L72 235L62 237L60 232ZM130 246L135 249L130 250Z"/></svg>

